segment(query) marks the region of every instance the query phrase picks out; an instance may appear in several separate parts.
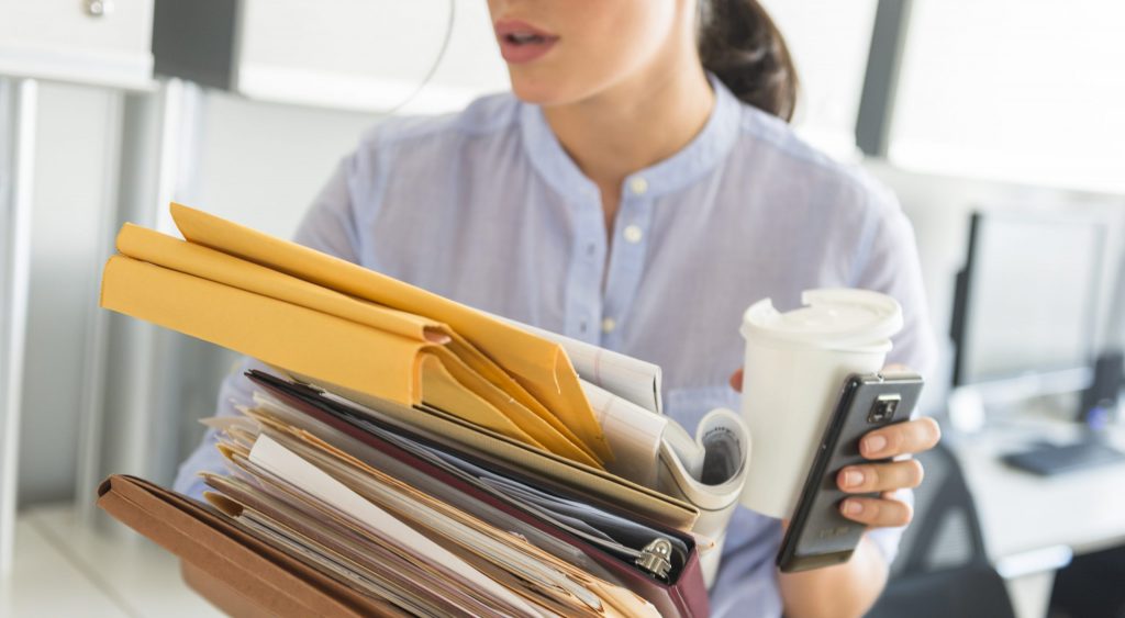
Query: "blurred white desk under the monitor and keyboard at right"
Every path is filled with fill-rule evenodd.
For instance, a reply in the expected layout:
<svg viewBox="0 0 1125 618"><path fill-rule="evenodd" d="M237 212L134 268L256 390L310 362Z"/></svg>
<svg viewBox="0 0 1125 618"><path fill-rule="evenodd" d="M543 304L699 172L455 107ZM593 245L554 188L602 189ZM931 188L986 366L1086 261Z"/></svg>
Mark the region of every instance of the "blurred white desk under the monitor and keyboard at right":
<svg viewBox="0 0 1125 618"><path fill-rule="evenodd" d="M999 460L1035 439L1077 439L1078 430L1028 418L948 439L976 502L989 558L1008 580L1020 618L1046 616L1066 548L1084 554L1125 545L1125 463L1043 478ZM1125 449L1125 427L1112 428L1108 439Z"/></svg>

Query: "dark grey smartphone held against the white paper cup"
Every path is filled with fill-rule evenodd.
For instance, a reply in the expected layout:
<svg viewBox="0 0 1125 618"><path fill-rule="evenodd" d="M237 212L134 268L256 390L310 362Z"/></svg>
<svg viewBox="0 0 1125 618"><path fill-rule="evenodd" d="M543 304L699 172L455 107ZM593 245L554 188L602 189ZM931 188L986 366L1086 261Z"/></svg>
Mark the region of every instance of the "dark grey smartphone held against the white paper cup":
<svg viewBox="0 0 1125 618"><path fill-rule="evenodd" d="M852 557L866 527L840 515L840 502L865 494L840 491L836 476L845 466L870 462L860 454L860 439L872 429L909 420L921 387L921 378L914 373L853 374L844 382L777 552L783 572L831 566Z"/></svg>

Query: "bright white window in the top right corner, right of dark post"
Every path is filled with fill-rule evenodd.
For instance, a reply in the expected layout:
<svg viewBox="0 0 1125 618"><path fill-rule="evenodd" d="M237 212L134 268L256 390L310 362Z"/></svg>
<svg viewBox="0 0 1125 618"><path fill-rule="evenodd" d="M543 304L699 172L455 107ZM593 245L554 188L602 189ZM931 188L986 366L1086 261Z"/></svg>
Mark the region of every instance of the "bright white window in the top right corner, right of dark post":
<svg viewBox="0 0 1125 618"><path fill-rule="evenodd" d="M915 0L896 165L1125 190L1125 3Z"/></svg>

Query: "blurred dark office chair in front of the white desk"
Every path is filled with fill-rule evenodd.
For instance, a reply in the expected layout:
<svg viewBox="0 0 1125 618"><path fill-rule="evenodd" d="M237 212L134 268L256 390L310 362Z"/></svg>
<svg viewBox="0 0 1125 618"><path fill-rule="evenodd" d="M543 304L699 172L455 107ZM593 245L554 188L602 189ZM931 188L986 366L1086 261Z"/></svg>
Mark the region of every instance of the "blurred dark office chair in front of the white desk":
<svg viewBox="0 0 1125 618"><path fill-rule="evenodd" d="M926 480L915 490L915 521L867 618L1014 618L956 458L938 445L918 460Z"/></svg>

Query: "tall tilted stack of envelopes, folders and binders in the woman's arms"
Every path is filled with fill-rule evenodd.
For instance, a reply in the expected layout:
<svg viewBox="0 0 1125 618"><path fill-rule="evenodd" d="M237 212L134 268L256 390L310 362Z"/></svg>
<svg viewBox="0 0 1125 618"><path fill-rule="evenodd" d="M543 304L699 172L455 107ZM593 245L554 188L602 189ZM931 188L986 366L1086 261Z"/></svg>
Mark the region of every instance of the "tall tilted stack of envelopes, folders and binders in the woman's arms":
<svg viewBox="0 0 1125 618"><path fill-rule="evenodd" d="M709 415L693 444L659 415L651 365L198 210L172 215L183 240L122 229L101 305L267 370L248 373L242 416L207 420L228 467L205 474L207 503L114 475L99 505L180 556L216 606L708 612L701 554L717 557L745 478L737 420Z"/></svg>

